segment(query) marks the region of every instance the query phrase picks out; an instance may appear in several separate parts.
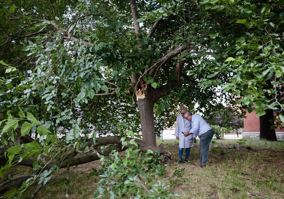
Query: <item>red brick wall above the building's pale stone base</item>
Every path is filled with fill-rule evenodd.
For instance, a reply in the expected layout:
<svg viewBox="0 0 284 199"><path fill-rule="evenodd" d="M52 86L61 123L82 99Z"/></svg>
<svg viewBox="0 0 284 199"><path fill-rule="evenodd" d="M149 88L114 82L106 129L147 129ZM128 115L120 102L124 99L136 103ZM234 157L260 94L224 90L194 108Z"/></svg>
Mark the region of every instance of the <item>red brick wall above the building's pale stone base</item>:
<svg viewBox="0 0 284 199"><path fill-rule="evenodd" d="M276 113L274 113L274 116ZM256 117L255 111L246 114L247 118L244 118L244 132L259 132L259 117ZM275 129L276 132L284 132L284 128Z"/></svg>

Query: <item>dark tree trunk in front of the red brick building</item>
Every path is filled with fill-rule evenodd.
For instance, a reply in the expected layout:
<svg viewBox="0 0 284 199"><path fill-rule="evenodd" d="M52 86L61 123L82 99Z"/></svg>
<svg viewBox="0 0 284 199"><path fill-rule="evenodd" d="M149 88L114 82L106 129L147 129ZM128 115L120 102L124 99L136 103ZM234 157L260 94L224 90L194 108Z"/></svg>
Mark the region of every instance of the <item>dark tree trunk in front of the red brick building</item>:
<svg viewBox="0 0 284 199"><path fill-rule="evenodd" d="M259 117L260 139L277 141L275 129L271 127L274 124L273 110L265 110L266 114Z"/></svg>

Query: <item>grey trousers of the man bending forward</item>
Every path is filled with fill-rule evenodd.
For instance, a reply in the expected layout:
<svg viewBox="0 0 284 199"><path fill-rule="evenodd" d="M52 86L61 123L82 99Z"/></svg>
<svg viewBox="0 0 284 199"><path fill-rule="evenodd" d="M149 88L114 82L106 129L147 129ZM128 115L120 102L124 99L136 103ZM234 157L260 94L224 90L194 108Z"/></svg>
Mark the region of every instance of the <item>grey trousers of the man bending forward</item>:
<svg viewBox="0 0 284 199"><path fill-rule="evenodd" d="M208 158L208 149L210 142L212 140L212 137L214 135L213 129L203 133L200 138L200 163L207 165L207 158Z"/></svg>

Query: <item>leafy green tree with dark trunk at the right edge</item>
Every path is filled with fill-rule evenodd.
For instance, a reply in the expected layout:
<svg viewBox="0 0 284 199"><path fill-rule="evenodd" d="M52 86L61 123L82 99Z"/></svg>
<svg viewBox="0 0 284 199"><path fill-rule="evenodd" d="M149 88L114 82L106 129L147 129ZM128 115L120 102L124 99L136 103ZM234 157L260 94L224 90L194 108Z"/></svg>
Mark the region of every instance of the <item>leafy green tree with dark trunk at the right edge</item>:
<svg viewBox="0 0 284 199"><path fill-rule="evenodd" d="M208 8L220 9L222 5L226 4L219 2ZM281 109L277 119L284 122L282 8L280 2L255 1L222 9L231 18L228 22L237 20L243 32L234 39L234 47L228 47L234 55L227 58L227 65L235 67L235 74L222 89L235 95L237 103L249 112L256 110L256 116L260 116L260 138L267 140L276 140L270 121L273 110Z"/></svg>

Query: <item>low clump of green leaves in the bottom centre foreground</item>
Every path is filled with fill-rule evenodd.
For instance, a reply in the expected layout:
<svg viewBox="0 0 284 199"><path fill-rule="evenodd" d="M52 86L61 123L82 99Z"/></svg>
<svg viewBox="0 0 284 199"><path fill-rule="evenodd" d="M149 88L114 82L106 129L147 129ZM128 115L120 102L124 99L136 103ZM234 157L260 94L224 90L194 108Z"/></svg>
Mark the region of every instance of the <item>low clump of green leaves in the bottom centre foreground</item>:
<svg viewBox="0 0 284 199"><path fill-rule="evenodd" d="M133 143L122 138L122 144ZM133 143L135 144L135 143ZM99 187L95 190L96 198L177 198L181 194L168 192L168 187L160 181L151 184L155 175L163 176L165 169L160 165L158 151L148 150L146 153L134 146L126 149L125 157L112 151L110 156L101 156L103 168L100 170ZM147 179L147 181L145 180ZM149 185L148 185L149 184ZM151 186L151 189L146 187Z"/></svg>

